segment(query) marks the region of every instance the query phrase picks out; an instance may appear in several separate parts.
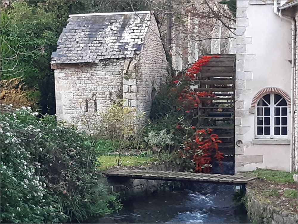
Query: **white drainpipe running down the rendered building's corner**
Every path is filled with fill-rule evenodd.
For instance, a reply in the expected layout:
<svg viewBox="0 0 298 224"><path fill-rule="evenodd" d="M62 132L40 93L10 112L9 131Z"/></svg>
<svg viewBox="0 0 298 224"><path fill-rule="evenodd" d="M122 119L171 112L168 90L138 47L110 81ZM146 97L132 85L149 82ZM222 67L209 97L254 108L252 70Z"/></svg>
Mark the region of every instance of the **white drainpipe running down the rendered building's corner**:
<svg viewBox="0 0 298 224"><path fill-rule="evenodd" d="M283 16L282 10L278 10L277 1L273 2L273 11L281 19L285 19L292 23L292 55L291 55L291 139L290 139L290 172L293 171L293 154L294 154L294 145L293 145L293 135L294 135L294 64L295 64L295 19L290 16Z"/></svg>

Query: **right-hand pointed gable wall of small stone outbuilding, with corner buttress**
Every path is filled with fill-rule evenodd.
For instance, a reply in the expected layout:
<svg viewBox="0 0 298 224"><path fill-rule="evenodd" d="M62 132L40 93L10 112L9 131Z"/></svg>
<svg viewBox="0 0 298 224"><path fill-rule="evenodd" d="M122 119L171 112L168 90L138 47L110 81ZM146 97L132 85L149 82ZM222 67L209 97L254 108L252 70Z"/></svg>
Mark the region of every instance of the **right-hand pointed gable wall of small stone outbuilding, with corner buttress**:
<svg viewBox="0 0 298 224"><path fill-rule="evenodd" d="M142 50L130 62L128 72L123 77L125 106L137 107L138 111L145 112L145 117L139 124L148 119L152 100L160 86L166 83L168 76L165 51L152 16Z"/></svg>

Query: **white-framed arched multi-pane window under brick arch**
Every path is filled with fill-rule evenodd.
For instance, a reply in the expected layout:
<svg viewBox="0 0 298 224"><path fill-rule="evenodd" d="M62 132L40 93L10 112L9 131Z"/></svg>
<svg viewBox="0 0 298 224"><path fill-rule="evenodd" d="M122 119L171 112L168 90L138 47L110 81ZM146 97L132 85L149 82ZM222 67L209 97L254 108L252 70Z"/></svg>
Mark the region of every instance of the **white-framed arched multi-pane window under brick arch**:
<svg viewBox="0 0 298 224"><path fill-rule="evenodd" d="M288 137L288 105L277 93L267 93L257 102L256 137Z"/></svg>

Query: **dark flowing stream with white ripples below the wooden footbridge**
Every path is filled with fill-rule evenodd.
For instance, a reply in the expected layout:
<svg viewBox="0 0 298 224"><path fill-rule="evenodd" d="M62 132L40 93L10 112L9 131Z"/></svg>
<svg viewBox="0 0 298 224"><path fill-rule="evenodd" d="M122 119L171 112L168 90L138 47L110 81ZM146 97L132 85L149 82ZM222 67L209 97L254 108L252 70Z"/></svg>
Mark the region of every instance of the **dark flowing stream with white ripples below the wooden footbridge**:
<svg viewBox="0 0 298 224"><path fill-rule="evenodd" d="M232 201L234 192L230 185L197 183L191 190L134 197L95 223L250 223L245 208Z"/></svg>

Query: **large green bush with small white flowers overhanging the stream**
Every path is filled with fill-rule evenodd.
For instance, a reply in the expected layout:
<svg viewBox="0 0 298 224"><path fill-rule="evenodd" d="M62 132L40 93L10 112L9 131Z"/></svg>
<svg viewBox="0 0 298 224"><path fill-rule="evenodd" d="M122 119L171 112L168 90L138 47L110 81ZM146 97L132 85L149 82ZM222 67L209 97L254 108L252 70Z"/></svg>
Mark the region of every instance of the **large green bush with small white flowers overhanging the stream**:
<svg viewBox="0 0 298 224"><path fill-rule="evenodd" d="M36 115L25 107L1 114L1 222L82 221L120 208L89 139Z"/></svg>

